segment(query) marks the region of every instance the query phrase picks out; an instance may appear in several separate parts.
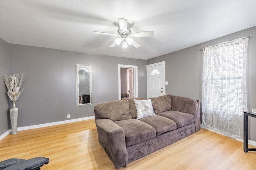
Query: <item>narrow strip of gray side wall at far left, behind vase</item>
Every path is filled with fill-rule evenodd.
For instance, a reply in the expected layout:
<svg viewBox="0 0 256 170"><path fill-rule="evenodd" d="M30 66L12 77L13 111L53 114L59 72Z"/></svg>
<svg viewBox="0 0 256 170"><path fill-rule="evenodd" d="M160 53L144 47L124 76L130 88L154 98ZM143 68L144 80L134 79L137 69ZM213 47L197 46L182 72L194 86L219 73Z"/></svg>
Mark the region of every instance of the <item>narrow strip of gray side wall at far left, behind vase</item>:
<svg viewBox="0 0 256 170"><path fill-rule="evenodd" d="M9 43L0 38L0 135L8 131L8 97L6 96L6 89L2 77L4 72L9 74Z"/></svg>

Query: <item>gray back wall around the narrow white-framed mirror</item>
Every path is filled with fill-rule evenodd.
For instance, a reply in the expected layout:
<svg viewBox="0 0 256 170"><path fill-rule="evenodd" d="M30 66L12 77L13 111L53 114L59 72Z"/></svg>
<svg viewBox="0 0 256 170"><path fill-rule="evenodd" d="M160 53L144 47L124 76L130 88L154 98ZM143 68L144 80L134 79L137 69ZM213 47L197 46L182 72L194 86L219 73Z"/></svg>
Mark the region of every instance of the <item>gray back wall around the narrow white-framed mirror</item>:
<svg viewBox="0 0 256 170"><path fill-rule="evenodd" d="M146 97L146 60L10 44L10 74L30 77L20 98L18 127L94 115L94 105L118 100L118 64L138 65L138 95ZM92 106L76 107L76 64L92 65Z"/></svg>

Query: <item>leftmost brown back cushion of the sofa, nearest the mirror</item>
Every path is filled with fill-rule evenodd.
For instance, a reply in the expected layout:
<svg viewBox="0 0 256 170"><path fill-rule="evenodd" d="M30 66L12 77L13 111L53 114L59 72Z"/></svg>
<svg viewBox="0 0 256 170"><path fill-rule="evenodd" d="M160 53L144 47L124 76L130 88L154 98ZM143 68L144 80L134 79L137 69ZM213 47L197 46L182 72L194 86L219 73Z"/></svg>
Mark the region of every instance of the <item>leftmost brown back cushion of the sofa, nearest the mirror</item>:
<svg viewBox="0 0 256 170"><path fill-rule="evenodd" d="M132 119L128 100L115 100L94 106L95 117L107 118L112 121Z"/></svg>

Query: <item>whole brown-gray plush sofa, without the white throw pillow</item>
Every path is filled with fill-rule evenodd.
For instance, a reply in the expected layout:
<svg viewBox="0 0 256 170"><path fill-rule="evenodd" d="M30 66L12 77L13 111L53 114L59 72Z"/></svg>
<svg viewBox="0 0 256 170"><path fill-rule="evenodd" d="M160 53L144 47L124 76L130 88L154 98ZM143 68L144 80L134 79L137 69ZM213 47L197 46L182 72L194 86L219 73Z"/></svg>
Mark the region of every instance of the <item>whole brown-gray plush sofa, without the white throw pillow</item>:
<svg viewBox="0 0 256 170"><path fill-rule="evenodd" d="M139 120L134 99L94 106L99 143L116 169L200 130L199 100L165 95L151 102L156 115Z"/></svg>

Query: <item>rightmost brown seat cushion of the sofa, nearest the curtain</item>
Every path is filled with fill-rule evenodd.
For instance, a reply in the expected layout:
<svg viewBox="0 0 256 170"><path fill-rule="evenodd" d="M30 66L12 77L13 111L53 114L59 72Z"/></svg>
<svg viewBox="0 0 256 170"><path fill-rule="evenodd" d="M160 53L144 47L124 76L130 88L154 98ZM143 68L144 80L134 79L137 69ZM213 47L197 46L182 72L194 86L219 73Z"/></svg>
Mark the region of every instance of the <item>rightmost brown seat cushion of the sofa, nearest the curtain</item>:
<svg viewBox="0 0 256 170"><path fill-rule="evenodd" d="M177 124L177 128L184 127L195 122L194 115L190 113L183 113L180 111L169 110L158 113L157 115L172 119Z"/></svg>

